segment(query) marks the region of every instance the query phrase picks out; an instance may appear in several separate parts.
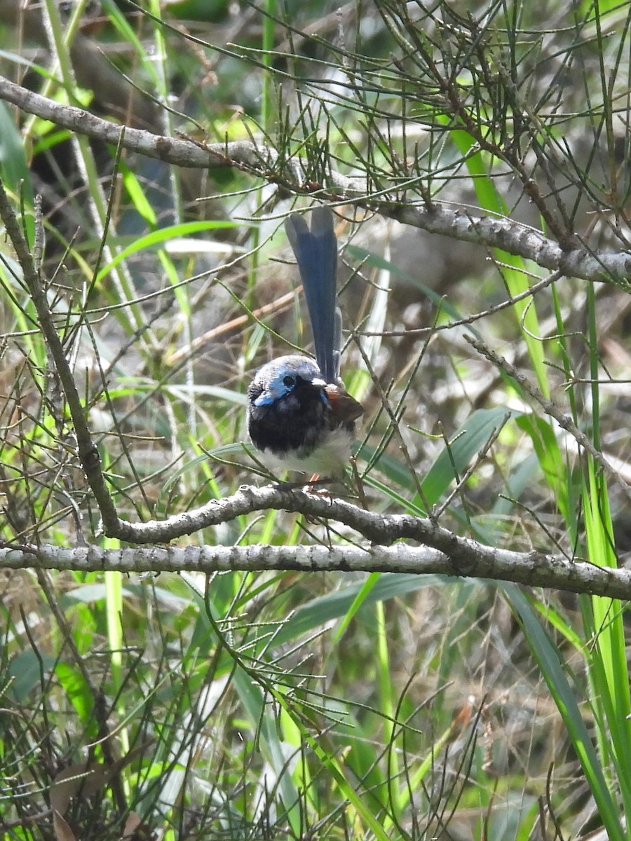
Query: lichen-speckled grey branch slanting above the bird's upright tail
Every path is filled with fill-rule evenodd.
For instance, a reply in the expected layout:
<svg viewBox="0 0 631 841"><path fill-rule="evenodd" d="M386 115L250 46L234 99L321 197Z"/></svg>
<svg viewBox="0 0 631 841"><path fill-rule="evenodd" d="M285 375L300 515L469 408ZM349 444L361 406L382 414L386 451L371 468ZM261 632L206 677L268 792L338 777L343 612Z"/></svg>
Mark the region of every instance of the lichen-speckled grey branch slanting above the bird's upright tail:
<svg viewBox="0 0 631 841"><path fill-rule="evenodd" d="M124 131L122 145L125 149L158 158L179 167L238 167L282 182L296 193L308 193L304 168L300 159L285 160L279 171L278 152L265 145L237 140L231 143L198 144L191 140L154 135L148 131L120 126L106 119L88 114L81 108L61 105L24 87L0 77L0 99L13 103L29 114L87 137L118 144ZM360 207L372 209L405 225L422 228L432 234L450 236L456 240L475 243L489 248L500 248L517 257L532 260L551 271L562 272L589 281L613 281L628 288L631 278L631 254L627 252L589 252L584 249L564 251L559 243L539 231L506 219L453 211L432 206L419 207L399 201L384 201L383 193L371 197L365 185L357 178L344 177L331 171L323 185L332 200L352 199ZM319 193L322 195L322 193Z"/></svg>

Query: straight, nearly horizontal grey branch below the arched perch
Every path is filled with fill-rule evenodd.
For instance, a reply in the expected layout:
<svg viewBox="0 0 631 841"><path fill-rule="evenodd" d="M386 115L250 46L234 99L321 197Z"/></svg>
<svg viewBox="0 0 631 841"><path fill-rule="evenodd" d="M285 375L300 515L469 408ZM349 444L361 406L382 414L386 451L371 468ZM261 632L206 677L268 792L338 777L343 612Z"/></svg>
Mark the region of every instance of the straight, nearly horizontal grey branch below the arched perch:
<svg viewBox="0 0 631 841"><path fill-rule="evenodd" d="M454 547L462 543L456 539ZM395 572L475 577L554 587L574 593L631 598L631 570L609 569L575 563L536 552L507 552L468 542L467 560L427 547L398 544L393 547L357 546L186 546L147 549L102 549L97 546L66 549L42 546L0 549L0 569L103 569L124 573L261 571L291 569L301 572Z"/></svg>

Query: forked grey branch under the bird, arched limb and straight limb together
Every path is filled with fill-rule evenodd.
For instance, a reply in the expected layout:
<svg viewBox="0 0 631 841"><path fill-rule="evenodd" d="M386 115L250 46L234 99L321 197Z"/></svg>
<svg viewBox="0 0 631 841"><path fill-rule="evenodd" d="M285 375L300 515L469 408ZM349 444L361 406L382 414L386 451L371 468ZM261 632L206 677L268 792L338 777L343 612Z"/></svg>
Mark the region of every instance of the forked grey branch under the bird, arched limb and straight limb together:
<svg viewBox="0 0 631 841"><path fill-rule="evenodd" d="M384 516L358 508L345 500L325 499L321 495L275 485L265 488L245 485L230 497L213 500L201 508L164 521L130 523L118 520L115 524L105 524L104 530L109 537L127 542L161 543L237 516L270 508L344 523L369 539L372 545L331 550L326 547L167 547L138 553L130 549L120 554L103 553L98 547L67 550L66 554L57 548L18 547L13 550L8 547L0 555L0 566L17 568L41 563L54 569L135 569L138 572L167 569L203 569L207 572L217 569L438 572L618 598L631 597L631 573L574 563L567 558L541 552L520 553L493 548L467 537L458 537L429 519L411 515ZM384 551L385 547L402 538L415 540L423 546L400 545ZM121 563L121 558L125 558L129 567L117 565ZM85 564L93 565L87 567Z"/></svg>

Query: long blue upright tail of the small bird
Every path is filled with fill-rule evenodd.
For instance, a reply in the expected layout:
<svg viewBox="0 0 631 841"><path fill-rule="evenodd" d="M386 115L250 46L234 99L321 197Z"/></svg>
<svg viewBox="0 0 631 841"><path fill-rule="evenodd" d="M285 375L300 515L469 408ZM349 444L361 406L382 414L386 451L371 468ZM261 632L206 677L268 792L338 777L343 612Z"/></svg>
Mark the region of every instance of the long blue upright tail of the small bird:
<svg viewBox="0 0 631 841"><path fill-rule="evenodd" d="M331 209L316 207L311 228L299 214L285 222L289 243L300 270L313 341L315 361L327 383L337 383L340 373L342 315L336 307L337 240Z"/></svg>

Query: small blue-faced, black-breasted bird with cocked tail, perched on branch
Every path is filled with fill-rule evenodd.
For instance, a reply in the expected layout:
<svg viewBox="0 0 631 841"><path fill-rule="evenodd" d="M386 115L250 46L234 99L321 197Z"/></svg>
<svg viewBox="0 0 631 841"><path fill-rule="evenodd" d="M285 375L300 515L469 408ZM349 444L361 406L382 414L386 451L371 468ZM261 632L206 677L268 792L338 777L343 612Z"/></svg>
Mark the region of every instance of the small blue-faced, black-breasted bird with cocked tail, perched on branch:
<svg viewBox="0 0 631 841"><path fill-rule="evenodd" d="M363 406L340 379L342 314L337 309L337 240L333 214L299 214L285 222L298 262L315 346L310 357L278 357L259 368L247 389L247 431L262 463L326 479L341 476Z"/></svg>

